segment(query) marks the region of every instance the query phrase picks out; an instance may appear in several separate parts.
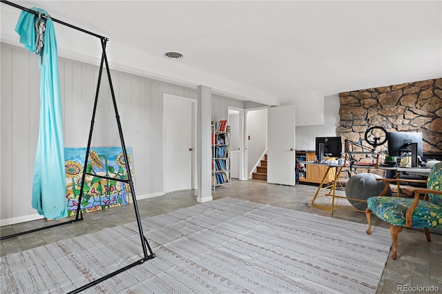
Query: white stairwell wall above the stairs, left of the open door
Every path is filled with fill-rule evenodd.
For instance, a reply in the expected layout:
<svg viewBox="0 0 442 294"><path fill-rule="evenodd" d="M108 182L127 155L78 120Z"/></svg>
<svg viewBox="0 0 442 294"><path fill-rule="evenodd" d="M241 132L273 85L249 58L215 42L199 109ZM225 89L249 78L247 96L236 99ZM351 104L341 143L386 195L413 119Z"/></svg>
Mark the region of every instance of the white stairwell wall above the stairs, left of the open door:
<svg viewBox="0 0 442 294"><path fill-rule="evenodd" d="M246 175L250 175L267 150L267 108L247 111L246 148L248 153Z"/></svg>

